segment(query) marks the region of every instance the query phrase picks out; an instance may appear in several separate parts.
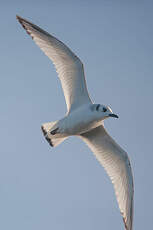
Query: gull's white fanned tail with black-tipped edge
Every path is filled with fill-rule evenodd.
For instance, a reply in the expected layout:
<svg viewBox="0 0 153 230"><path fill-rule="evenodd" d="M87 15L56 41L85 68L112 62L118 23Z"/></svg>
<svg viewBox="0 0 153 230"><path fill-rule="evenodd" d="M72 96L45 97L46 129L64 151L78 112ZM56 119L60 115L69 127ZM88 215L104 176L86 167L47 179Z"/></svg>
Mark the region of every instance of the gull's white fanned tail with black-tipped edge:
<svg viewBox="0 0 153 230"><path fill-rule="evenodd" d="M55 135L56 131L58 130L56 126L57 123L58 121L48 122L48 123L44 123L41 126L42 132L46 140L52 147L56 147L57 145L59 145L61 142L63 142L67 138L67 137L57 137Z"/></svg>

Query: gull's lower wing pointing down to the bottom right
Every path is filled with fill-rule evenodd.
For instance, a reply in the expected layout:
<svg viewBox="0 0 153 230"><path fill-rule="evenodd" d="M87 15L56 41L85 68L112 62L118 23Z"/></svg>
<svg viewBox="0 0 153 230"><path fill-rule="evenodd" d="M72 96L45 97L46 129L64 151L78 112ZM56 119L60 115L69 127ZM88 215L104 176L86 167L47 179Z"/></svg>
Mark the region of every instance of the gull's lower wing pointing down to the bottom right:
<svg viewBox="0 0 153 230"><path fill-rule="evenodd" d="M99 126L81 135L109 175L126 230L132 230L133 176L127 153Z"/></svg>

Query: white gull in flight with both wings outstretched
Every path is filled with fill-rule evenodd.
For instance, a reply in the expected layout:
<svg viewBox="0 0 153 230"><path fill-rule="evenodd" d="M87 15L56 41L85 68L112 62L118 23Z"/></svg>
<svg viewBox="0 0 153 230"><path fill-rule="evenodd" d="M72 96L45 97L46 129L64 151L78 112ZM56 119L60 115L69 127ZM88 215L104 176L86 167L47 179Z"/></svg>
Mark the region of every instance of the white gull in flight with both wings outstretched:
<svg viewBox="0 0 153 230"><path fill-rule="evenodd" d="M54 147L73 135L89 146L112 181L125 229L132 230L134 186L131 164L127 153L104 128L105 119L118 116L110 107L92 103L83 64L64 43L28 20L16 18L53 62L64 91L67 113L61 120L41 126L46 140Z"/></svg>

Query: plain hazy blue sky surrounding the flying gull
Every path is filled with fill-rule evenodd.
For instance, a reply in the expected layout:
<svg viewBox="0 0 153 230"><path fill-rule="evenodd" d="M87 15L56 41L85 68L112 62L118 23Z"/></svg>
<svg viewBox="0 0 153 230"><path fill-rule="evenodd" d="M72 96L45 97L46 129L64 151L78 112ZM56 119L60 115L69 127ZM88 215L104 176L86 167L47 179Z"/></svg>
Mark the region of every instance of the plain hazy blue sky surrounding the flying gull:
<svg viewBox="0 0 153 230"><path fill-rule="evenodd" d="M153 2L1 1L0 229L124 229L113 186L74 137L57 148L40 126L64 116L55 69L16 21L19 14L83 61L93 102L118 120L105 126L128 152L134 229L153 226Z"/></svg>

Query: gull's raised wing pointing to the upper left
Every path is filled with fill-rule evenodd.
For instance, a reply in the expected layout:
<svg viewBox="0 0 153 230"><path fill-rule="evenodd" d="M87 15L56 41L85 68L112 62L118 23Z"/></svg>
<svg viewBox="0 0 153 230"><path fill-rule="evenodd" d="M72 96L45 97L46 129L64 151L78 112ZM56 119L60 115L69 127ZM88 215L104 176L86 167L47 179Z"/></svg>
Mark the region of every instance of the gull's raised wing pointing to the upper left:
<svg viewBox="0 0 153 230"><path fill-rule="evenodd" d="M55 65L61 80L68 112L80 105L91 103L80 59L66 45L46 31L19 16L17 19Z"/></svg>

